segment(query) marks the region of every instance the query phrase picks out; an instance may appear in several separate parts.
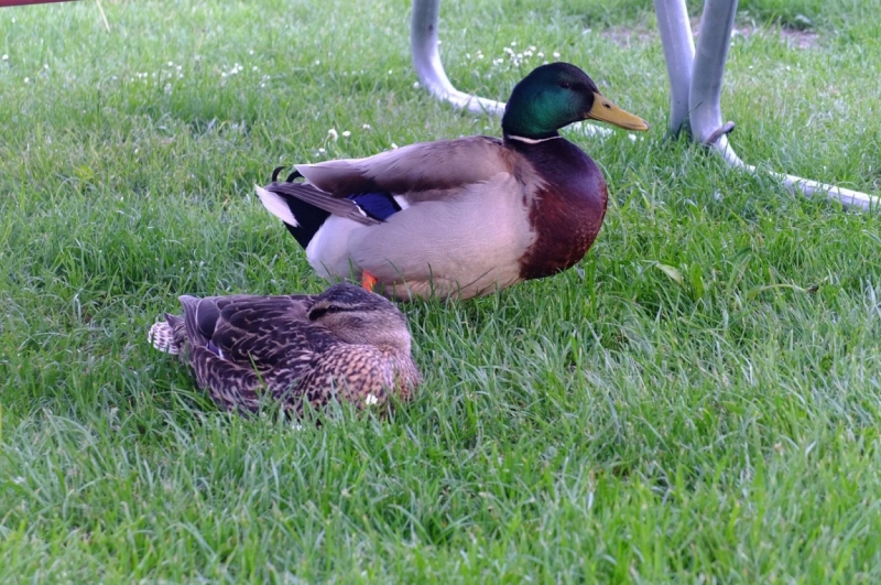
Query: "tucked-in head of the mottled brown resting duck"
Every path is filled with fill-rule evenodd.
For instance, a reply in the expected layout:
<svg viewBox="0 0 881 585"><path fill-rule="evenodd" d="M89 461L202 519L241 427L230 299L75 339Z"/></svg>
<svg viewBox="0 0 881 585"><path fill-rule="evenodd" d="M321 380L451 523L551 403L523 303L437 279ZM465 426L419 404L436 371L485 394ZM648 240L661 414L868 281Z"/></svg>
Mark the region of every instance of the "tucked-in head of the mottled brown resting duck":
<svg viewBox="0 0 881 585"><path fill-rule="evenodd" d="M410 354L406 317L391 301L354 284L334 284L315 299L309 321L348 344Z"/></svg>

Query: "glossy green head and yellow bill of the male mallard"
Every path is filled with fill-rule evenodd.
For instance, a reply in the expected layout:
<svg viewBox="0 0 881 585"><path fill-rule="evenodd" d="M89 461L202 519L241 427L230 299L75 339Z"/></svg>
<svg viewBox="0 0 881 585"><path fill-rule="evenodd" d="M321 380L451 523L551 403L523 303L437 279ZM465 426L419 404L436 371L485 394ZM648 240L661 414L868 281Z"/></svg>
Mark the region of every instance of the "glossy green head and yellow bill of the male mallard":
<svg viewBox="0 0 881 585"><path fill-rule="evenodd" d="M532 71L511 91L504 108L505 136L542 139L579 120L602 120L627 130L648 130L645 120L629 113L597 89L585 72L568 63L550 63Z"/></svg>

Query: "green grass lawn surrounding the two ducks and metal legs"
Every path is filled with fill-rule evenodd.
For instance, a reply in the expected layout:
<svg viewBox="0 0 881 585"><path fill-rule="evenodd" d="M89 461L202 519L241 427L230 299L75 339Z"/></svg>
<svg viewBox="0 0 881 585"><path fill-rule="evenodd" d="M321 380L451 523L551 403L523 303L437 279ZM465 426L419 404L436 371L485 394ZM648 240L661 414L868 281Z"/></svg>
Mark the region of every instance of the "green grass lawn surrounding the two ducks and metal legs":
<svg viewBox="0 0 881 585"><path fill-rule="evenodd" d="M442 4L459 88L558 54L653 128L569 131L587 258L405 306L421 397L320 429L218 412L145 335L324 288L273 166L500 133L414 88L410 3L0 9L0 582L881 582L881 218L665 140L649 0ZM879 1L740 8L738 153L878 194Z"/></svg>

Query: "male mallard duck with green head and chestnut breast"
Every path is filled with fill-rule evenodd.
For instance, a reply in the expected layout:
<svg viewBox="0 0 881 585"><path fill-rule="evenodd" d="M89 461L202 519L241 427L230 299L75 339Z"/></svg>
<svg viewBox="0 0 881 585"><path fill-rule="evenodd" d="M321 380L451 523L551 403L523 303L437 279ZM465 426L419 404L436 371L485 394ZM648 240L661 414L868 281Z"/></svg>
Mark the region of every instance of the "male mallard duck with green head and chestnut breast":
<svg viewBox="0 0 881 585"><path fill-rule="evenodd" d="M502 140L467 137L298 164L258 194L324 278L395 299L489 294L584 258L606 215L597 164L557 130L595 119L648 130L581 69L542 65L511 93ZM278 171L276 173L278 174ZM302 176L304 183L293 183Z"/></svg>

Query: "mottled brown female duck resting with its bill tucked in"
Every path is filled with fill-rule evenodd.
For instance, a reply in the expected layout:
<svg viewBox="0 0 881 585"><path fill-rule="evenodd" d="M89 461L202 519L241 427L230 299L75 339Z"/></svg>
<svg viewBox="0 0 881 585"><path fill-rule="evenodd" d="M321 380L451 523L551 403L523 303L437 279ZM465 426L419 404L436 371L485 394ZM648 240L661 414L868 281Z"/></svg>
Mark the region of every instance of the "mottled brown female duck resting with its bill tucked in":
<svg viewBox="0 0 881 585"><path fill-rule="evenodd" d="M352 284L318 295L181 296L182 316L150 328L156 349L180 354L218 407L254 412L272 398L302 414L337 398L359 408L409 400L421 381L406 317ZM261 397L265 389L268 397Z"/></svg>

